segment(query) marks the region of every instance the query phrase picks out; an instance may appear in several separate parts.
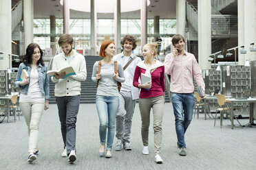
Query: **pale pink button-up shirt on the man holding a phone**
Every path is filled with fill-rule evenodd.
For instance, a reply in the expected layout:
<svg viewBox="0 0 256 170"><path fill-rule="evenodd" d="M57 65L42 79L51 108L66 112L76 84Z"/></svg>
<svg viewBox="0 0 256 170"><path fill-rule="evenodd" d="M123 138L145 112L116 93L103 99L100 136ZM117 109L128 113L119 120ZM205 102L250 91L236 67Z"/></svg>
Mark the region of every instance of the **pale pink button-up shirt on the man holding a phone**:
<svg viewBox="0 0 256 170"><path fill-rule="evenodd" d="M174 58L173 53L167 54L164 60L164 72L171 74L170 90L173 93L193 93L195 82L204 90L204 80L198 62L192 53L185 51L183 55L178 53Z"/></svg>

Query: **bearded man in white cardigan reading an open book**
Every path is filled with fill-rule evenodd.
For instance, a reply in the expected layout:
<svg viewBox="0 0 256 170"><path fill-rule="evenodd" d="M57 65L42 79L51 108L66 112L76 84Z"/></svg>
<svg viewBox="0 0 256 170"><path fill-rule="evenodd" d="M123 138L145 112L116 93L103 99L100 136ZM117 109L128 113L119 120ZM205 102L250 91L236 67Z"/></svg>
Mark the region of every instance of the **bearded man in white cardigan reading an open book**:
<svg viewBox="0 0 256 170"><path fill-rule="evenodd" d="M76 160L76 117L78 114L81 81L87 77L85 57L76 53L72 46L73 38L70 34L63 34L58 40L62 52L54 56L52 70L60 70L66 66L72 66L76 75L59 75L55 73L52 82L55 83L55 97L58 106L58 117L61 121L61 134L63 137L64 151L61 156L69 156L69 162Z"/></svg>

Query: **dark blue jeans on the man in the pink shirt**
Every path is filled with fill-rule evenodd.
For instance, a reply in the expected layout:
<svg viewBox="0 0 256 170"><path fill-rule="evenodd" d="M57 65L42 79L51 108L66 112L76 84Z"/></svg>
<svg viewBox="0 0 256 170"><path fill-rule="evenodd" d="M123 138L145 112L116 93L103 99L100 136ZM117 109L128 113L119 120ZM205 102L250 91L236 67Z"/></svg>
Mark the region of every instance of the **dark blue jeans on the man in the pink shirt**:
<svg viewBox="0 0 256 170"><path fill-rule="evenodd" d="M171 93L171 103L175 116L175 129L180 148L186 147L184 134L193 117L193 93Z"/></svg>

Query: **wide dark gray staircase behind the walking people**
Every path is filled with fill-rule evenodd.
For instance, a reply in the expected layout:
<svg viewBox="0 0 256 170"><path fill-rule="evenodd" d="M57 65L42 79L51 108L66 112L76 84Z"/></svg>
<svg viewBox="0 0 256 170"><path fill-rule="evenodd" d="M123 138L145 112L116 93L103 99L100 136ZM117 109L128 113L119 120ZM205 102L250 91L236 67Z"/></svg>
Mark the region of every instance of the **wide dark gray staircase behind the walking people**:
<svg viewBox="0 0 256 170"><path fill-rule="evenodd" d="M140 58L142 58L140 56ZM81 104L95 104L95 99L96 99L96 83L92 81L92 69L94 66L94 63L96 61L102 60L99 56L85 56L86 60L86 69L87 69L87 79L84 82L81 82L81 99L80 103ZM54 96L54 86L55 83L50 82L50 104L56 104L55 96ZM168 89L168 88L167 88ZM165 101L167 103L170 102L169 100L169 95L166 92L165 93Z"/></svg>

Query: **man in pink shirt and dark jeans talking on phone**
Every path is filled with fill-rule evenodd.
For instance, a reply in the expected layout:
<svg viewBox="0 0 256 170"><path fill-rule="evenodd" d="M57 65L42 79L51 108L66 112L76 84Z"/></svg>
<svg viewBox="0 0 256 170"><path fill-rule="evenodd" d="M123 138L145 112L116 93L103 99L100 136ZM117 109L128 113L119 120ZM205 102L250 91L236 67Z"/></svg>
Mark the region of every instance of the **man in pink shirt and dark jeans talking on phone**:
<svg viewBox="0 0 256 170"><path fill-rule="evenodd" d="M180 148L179 154L180 156L186 156L184 134L193 116L193 77L203 90L204 80L195 56L184 50L184 37L176 34L173 36L172 43L175 48L172 53L167 54L164 60L164 72L171 74L171 102L175 116L178 147Z"/></svg>

